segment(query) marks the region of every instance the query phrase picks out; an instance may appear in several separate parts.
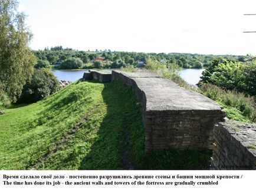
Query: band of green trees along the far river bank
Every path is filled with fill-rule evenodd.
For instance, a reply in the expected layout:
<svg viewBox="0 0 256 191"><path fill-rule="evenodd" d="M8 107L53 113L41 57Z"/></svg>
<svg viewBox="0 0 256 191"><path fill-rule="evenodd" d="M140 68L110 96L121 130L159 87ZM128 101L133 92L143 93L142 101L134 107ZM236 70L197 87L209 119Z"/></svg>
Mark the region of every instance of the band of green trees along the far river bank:
<svg viewBox="0 0 256 191"><path fill-rule="evenodd" d="M165 64L175 64L180 68L205 68L216 58L244 62L250 56L233 55L201 55L191 53L143 53L117 51L77 51L63 46L45 48L34 51L40 66L55 69L91 69L91 68L122 68L126 66L143 67L149 58Z"/></svg>

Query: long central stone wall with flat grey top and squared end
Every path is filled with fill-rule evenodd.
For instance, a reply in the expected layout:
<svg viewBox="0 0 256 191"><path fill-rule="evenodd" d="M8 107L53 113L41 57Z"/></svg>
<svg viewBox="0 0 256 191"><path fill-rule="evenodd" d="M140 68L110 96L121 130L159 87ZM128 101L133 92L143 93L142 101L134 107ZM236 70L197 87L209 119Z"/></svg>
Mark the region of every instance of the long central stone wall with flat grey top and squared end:
<svg viewBox="0 0 256 191"><path fill-rule="evenodd" d="M212 148L214 125L225 112L211 99L152 73L112 72L142 105L145 152Z"/></svg>

